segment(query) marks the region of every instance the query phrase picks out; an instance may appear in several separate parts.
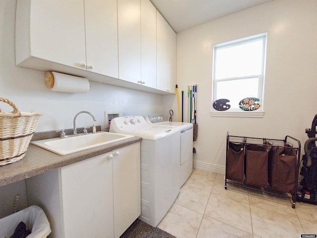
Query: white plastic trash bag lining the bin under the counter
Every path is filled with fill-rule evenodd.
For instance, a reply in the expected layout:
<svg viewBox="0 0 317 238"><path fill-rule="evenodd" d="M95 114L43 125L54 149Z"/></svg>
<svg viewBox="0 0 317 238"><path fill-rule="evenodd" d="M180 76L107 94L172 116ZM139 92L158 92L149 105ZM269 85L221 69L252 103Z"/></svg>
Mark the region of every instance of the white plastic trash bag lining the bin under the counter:
<svg viewBox="0 0 317 238"><path fill-rule="evenodd" d="M44 211L32 205L0 219L0 238L12 236L20 222L24 222L26 229L32 231L27 238L46 238L51 233L50 223Z"/></svg>

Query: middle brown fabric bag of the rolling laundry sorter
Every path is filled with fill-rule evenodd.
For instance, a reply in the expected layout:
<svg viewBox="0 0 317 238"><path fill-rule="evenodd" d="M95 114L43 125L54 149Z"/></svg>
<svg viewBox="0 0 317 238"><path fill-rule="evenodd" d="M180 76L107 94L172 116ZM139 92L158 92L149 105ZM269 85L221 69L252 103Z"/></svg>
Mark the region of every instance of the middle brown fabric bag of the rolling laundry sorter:
<svg viewBox="0 0 317 238"><path fill-rule="evenodd" d="M246 145L246 183L250 185L267 187L268 151L271 146L247 144Z"/></svg>

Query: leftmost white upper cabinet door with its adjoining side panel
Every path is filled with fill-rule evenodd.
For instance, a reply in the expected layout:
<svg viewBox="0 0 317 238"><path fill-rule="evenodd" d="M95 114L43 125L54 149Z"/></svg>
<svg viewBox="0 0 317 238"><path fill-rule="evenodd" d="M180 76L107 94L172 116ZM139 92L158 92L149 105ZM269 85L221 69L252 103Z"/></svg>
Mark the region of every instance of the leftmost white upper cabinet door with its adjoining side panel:
<svg viewBox="0 0 317 238"><path fill-rule="evenodd" d="M16 63L40 58L86 66L83 0L18 0Z"/></svg>

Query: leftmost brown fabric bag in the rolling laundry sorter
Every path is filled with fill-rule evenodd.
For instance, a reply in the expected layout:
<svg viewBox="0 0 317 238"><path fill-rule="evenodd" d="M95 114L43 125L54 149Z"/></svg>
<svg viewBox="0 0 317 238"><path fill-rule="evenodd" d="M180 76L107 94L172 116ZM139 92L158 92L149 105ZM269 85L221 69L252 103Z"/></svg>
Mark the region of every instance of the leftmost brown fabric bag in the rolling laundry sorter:
<svg viewBox="0 0 317 238"><path fill-rule="evenodd" d="M226 178L238 182L244 179L244 145L228 142Z"/></svg>

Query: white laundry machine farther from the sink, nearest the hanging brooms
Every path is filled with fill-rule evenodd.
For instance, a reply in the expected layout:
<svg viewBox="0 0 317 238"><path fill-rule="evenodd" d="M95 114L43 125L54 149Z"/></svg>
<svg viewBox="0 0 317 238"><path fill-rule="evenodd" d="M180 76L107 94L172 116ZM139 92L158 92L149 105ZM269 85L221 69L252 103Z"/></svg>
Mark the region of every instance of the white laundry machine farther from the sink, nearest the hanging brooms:
<svg viewBox="0 0 317 238"><path fill-rule="evenodd" d="M178 128L180 132L180 187L193 172L193 124L188 122L168 121L162 114L145 116L151 125L163 125Z"/></svg>

